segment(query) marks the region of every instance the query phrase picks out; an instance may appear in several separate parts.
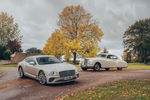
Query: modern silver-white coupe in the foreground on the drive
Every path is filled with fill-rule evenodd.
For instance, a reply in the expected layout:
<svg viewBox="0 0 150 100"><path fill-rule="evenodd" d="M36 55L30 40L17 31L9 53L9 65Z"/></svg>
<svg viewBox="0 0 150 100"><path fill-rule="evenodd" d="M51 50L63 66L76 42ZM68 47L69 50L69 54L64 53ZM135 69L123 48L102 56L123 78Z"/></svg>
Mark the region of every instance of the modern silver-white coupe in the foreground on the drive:
<svg viewBox="0 0 150 100"><path fill-rule="evenodd" d="M63 63L55 56L39 55L25 58L18 64L19 77L32 77L40 84L53 84L75 81L79 78L77 68Z"/></svg>

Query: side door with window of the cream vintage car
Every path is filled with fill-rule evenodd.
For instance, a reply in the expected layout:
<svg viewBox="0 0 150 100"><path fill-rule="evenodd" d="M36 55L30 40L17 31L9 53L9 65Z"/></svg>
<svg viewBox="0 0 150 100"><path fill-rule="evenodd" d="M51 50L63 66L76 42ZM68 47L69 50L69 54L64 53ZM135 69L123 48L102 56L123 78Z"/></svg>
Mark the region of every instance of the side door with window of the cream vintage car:
<svg viewBox="0 0 150 100"><path fill-rule="evenodd" d="M116 67L117 66L117 56L108 55L107 56L107 66L108 67Z"/></svg>

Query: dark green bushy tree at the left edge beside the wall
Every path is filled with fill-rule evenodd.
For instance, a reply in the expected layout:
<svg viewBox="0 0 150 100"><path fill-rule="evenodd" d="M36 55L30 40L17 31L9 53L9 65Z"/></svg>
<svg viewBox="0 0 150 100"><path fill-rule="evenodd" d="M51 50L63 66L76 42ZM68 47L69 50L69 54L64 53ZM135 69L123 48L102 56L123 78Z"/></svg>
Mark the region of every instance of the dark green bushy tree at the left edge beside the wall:
<svg viewBox="0 0 150 100"><path fill-rule="evenodd" d="M11 51L3 45L0 45L0 59L1 60L8 60L10 59L11 56Z"/></svg>

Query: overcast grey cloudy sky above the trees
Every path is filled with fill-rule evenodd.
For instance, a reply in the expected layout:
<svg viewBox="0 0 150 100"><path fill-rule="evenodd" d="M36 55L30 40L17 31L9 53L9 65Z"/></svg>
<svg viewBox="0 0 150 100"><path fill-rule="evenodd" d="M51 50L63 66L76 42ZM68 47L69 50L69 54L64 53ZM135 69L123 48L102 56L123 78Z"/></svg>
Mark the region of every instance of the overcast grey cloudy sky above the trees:
<svg viewBox="0 0 150 100"><path fill-rule="evenodd" d="M42 49L51 33L58 28L58 14L69 5L81 5L104 32L102 49L122 55L122 36L136 20L149 18L150 0L1 0L0 12L8 12L19 24L24 50Z"/></svg>

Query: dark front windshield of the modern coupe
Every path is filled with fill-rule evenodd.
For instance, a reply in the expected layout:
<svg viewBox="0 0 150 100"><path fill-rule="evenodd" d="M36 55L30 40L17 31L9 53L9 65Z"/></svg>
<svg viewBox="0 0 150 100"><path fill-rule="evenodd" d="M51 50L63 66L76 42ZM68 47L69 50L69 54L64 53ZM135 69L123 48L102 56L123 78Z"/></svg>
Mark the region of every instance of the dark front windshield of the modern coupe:
<svg viewBox="0 0 150 100"><path fill-rule="evenodd" d="M56 57L38 57L36 60L39 65L62 63L62 61Z"/></svg>

